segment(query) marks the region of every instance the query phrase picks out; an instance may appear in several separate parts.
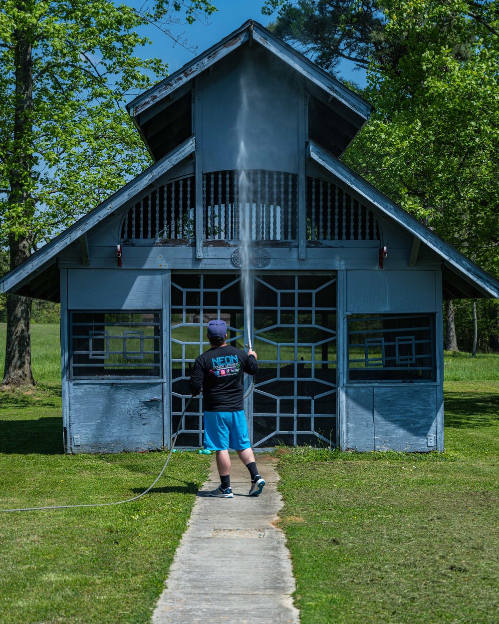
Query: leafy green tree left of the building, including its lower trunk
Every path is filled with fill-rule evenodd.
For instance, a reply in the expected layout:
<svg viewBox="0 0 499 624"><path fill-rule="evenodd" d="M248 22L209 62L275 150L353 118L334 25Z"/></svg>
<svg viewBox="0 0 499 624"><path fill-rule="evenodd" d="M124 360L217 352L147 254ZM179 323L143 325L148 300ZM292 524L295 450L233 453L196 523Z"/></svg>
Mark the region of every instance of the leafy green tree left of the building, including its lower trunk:
<svg viewBox="0 0 499 624"><path fill-rule="evenodd" d="M127 95L167 74L143 60L136 32L164 32L208 0L157 0L136 10L111 0L4 0L0 7L0 245L14 268L149 162L124 110ZM33 384L31 300L7 298L3 384Z"/></svg>

